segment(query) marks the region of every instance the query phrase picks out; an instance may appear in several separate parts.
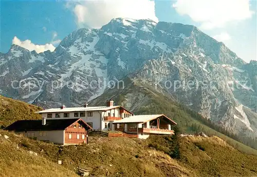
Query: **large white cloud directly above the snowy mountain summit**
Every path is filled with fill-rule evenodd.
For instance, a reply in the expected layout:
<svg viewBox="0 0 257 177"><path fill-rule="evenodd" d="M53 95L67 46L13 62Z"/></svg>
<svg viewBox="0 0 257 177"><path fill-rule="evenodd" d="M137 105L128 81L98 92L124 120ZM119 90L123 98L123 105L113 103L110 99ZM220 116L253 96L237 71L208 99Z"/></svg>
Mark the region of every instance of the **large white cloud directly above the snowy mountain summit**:
<svg viewBox="0 0 257 177"><path fill-rule="evenodd" d="M72 9L77 17L79 27L90 26L100 28L112 18L150 18L158 21L155 15L155 2L150 0L107 0L107 1L76 1ZM71 8L71 2L66 8Z"/></svg>

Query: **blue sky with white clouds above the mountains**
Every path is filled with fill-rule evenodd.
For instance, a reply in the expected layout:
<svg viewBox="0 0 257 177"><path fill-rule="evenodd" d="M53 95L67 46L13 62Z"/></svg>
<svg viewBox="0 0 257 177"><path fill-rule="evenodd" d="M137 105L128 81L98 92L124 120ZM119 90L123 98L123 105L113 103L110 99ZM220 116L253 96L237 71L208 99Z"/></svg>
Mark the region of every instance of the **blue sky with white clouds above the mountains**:
<svg viewBox="0 0 257 177"><path fill-rule="evenodd" d="M79 28L100 28L112 18L150 18L194 25L246 62L257 60L257 3L248 0L0 1L0 52L14 43L53 51Z"/></svg>

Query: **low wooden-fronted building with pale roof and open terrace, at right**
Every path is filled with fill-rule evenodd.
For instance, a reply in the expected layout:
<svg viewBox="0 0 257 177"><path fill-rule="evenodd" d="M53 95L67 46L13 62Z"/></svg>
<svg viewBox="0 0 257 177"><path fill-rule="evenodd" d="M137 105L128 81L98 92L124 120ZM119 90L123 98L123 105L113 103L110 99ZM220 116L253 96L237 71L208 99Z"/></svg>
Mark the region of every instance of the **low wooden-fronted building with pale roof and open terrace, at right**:
<svg viewBox="0 0 257 177"><path fill-rule="evenodd" d="M152 135L173 135L172 125L177 123L167 116L138 115L130 116L113 122L113 130L137 134L138 138L148 138Z"/></svg>

